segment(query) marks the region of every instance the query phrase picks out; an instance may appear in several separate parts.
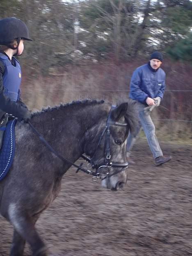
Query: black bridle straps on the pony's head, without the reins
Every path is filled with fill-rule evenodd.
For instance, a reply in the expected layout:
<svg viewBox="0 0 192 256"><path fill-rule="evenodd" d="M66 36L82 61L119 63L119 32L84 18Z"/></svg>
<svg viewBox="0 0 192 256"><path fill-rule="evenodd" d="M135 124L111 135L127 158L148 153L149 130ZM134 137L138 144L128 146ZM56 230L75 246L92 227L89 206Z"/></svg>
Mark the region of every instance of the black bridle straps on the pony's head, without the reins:
<svg viewBox="0 0 192 256"><path fill-rule="evenodd" d="M108 115L108 118L107 118L106 126L103 129L103 132L102 132L102 134L99 138L98 144L96 146L96 149L95 149L92 157L87 158L85 155L82 155L82 158L90 163L91 168L96 169L96 171L97 171L97 175L95 177L93 177L93 180L94 180L94 178L95 178L95 180L97 178L101 178L102 172L100 172L100 171L101 171L102 168L106 168L106 167L107 168L110 168L110 167L119 167L119 168L121 167L122 168L119 171L115 171L113 174L110 174L110 171L107 172L106 176L104 178L102 178L102 180L103 180L105 178L109 178L111 176L114 176L115 174L118 174L119 172L123 171L123 169L125 167L128 166L128 162L119 163L119 162L112 162L111 161L111 152L110 152L110 135L111 135L111 133L110 133L110 127L111 126L127 126L128 125L127 123L120 123L120 122L115 122L115 121L112 120L111 113L112 113L112 110L115 107L116 106L112 105L112 107L110 109L110 112L109 112L109 115ZM102 141L104 135L105 135L105 149L104 149L104 157L103 157L104 161L103 161L103 163L97 165L97 164L94 163L93 157L94 157L99 145L101 144L101 141Z"/></svg>

